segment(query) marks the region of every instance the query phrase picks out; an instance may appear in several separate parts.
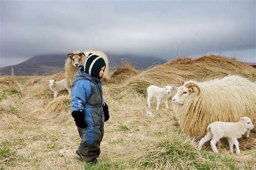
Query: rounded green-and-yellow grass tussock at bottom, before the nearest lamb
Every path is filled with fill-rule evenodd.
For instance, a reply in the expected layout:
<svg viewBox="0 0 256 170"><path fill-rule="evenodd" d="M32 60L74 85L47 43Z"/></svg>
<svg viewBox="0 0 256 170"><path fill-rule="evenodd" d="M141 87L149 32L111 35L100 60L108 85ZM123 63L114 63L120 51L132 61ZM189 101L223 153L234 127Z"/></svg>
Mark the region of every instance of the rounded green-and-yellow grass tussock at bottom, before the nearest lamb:
<svg viewBox="0 0 256 170"><path fill-rule="evenodd" d="M200 158L193 141L180 133L163 136L145 150L138 160L142 167L147 168L193 168Z"/></svg>

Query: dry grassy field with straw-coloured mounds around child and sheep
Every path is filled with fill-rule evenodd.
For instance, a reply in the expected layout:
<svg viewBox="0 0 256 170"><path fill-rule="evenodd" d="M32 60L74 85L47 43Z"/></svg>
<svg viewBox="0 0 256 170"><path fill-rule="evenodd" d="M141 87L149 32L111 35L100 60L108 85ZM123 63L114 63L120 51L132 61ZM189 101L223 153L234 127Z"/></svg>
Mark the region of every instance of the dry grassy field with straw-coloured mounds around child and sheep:
<svg viewBox="0 0 256 170"><path fill-rule="evenodd" d="M164 103L147 108L146 88L151 84L180 86L190 79L205 81L239 74L256 81L256 69L224 56L177 58L147 70L129 63L117 67L103 82L110 110L101 153L96 165L81 162L80 139L70 112L68 91L53 100L50 76L0 77L0 169L255 169L256 134L239 139L241 154L231 154L226 140L214 154L199 139L186 136ZM252 93L255 93L253 91ZM152 102L156 108L156 101Z"/></svg>

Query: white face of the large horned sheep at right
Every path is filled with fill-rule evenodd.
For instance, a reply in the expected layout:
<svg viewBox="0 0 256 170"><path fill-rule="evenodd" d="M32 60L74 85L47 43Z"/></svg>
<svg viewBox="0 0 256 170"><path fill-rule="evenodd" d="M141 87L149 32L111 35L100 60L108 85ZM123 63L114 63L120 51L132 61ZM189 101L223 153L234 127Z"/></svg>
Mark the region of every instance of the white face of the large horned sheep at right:
<svg viewBox="0 0 256 170"><path fill-rule="evenodd" d="M183 105L189 93L190 90L188 88L186 88L185 86L180 86L177 90L176 95L172 97L172 103Z"/></svg>

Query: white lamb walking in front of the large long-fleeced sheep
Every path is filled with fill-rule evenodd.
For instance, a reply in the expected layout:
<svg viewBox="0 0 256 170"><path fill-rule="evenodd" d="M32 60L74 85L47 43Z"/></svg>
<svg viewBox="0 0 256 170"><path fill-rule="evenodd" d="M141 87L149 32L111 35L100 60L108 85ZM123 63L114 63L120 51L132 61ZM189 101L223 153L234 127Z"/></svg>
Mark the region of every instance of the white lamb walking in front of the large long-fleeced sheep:
<svg viewBox="0 0 256 170"><path fill-rule="evenodd" d="M230 144L230 152L233 153L233 145L237 150L237 154L240 154L238 138L242 137L242 134L246 135L250 130L253 130L254 125L248 117L242 117L238 122L213 122L207 127L207 133L204 138L199 141L198 148L202 148L204 143L211 140L211 147L213 152L218 153L216 143L221 138L227 138L228 144Z"/></svg>

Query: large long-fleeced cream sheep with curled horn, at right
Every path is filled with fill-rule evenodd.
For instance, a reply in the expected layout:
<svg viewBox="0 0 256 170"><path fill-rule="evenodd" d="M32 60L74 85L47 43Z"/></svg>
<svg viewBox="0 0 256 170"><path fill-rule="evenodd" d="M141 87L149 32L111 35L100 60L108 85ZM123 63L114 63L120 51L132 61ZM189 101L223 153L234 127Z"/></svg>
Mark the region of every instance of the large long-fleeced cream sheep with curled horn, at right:
<svg viewBox="0 0 256 170"><path fill-rule="evenodd" d="M237 122L251 117L256 122L256 83L231 75L205 82L188 81L172 98L172 109L181 130L191 137L203 137L208 124Z"/></svg>

